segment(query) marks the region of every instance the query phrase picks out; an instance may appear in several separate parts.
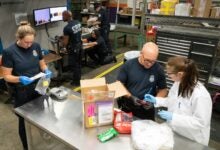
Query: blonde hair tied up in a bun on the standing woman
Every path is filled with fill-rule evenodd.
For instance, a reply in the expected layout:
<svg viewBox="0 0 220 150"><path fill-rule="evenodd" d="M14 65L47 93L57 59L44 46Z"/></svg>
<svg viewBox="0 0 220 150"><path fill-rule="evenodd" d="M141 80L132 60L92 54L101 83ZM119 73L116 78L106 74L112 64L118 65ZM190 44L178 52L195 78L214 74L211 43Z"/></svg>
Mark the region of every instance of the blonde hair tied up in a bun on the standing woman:
<svg viewBox="0 0 220 150"><path fill-rule="evenodd" d="M26 35L36 35L36 31L31 27L27 21L20 22L20 26L15 34L17 39L23 39Z"/></svg>

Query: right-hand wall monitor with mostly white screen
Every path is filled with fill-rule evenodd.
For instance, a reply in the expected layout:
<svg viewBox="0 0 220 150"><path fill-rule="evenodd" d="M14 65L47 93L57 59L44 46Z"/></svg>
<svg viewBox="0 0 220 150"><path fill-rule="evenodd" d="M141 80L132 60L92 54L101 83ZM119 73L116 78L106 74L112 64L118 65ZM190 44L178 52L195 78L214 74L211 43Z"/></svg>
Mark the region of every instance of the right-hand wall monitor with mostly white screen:
<svg viewBox="0 0 220 150"><path fill-rule="evenodd" d="M67 10L67 6L50 7L50 21L56 22L63 20L62 13Z"/></svg>

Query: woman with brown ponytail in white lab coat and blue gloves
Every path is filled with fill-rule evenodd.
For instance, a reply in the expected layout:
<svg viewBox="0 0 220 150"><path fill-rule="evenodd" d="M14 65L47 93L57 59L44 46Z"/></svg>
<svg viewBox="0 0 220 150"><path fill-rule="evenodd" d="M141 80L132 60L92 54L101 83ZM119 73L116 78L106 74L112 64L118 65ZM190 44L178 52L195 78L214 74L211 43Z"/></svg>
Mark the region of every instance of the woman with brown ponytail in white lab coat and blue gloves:
<svg viewBox="0 0 220 150"><path fill-rule="evenodd" d="M212 100L206 88L198 81L198 70L193 60L171 57L167 62L167 74L174 81L166 98L146 94L145 100L164 106L168 111L158 112L180 135L208 145Z"/></svg>

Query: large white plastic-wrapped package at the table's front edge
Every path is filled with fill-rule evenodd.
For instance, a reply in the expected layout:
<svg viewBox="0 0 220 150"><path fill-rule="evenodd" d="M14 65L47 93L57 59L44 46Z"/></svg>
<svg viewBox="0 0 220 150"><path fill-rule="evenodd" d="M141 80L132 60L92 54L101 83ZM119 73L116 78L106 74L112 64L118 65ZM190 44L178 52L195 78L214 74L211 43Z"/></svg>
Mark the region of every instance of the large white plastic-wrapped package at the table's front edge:
<svg viewBox="0 0 220 150"><path fill-rule="evenodd" d="M132 145L137 150L172 150L172 129L151 120L136 120L131 128Z"/></svg>

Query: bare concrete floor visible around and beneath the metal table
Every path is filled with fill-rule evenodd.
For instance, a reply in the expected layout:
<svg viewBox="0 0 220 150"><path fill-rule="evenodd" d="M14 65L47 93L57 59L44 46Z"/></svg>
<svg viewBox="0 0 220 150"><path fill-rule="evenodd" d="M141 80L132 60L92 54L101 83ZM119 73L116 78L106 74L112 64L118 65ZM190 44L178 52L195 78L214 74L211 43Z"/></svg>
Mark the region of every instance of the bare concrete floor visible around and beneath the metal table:
<svg viewBox="0 0 220 150"><path fill-rule="evenodd" d="M120 50L114 51L117 55L119 53L123 53L127 50L134 50L135 47L127 47L127 48L120 48ZM118 62L123 61L123 55L118 57ZM82 78L94 78L107 68L114 66L114 63L100 66L95 69L83 68L83 77ZM115 76L117 74L118 69L112 71L110 74L106 75L107 82L111 83L115 80ZM53 83L52 83L53 85ZM72 87L69 82L65 82L62 85L65 85L69 88ZM0 150L22 150L22 145L18 136L18 128L17 128L17 117L13 112L12 104L5 104L8 99L8 95L6 92L0 93ZM38 147L36 149L56 149L56 150L63 150L68 149L65 145L60 144L58 141L50 137L49 135L39 131L38 129L35 130L34 136L38 136ZM220 114L213 112L212 115L212 124L211 124L211 137L209 146L215 149L220 149Z"/></svg>

